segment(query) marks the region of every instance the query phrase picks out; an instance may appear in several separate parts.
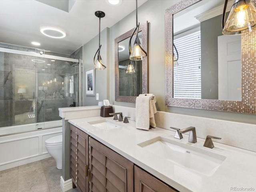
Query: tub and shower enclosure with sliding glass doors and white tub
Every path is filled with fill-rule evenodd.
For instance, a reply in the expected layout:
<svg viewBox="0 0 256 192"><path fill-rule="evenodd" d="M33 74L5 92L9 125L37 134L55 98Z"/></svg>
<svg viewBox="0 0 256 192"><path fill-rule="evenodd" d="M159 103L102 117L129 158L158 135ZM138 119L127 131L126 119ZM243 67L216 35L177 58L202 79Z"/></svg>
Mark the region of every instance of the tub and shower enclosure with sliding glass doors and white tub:
<svg viewBox="0 0 256 192"><path fill-rule="evenodd" d="M0 170L50 157L58 108L80 106L81 61L0 43Z"/></svg>

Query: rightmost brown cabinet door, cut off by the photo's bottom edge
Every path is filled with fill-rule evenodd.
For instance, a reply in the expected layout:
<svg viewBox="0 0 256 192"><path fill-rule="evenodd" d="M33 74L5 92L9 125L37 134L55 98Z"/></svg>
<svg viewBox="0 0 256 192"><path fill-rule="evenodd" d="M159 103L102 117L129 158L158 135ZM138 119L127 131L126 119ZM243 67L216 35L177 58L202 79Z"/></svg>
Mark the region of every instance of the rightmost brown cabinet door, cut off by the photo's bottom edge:
<svg viewBox="0 0 256 192"><path fill-rule="evenodd" d="M134 166L134 192L178 192L154 176Z"/></svg>

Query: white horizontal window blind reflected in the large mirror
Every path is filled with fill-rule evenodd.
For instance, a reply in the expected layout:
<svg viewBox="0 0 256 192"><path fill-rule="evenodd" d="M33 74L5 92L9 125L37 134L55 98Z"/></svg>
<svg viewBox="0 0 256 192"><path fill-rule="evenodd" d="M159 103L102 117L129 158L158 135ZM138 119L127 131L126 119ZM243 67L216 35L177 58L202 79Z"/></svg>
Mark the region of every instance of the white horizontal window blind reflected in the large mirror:
<svg viewBox="0 0 256 192"><path fill-rule="evenodd" d="M173 67L173 97L201 98L200 30L174 39L178 65ZM177 58L174 49L174 55Z"/></svg>

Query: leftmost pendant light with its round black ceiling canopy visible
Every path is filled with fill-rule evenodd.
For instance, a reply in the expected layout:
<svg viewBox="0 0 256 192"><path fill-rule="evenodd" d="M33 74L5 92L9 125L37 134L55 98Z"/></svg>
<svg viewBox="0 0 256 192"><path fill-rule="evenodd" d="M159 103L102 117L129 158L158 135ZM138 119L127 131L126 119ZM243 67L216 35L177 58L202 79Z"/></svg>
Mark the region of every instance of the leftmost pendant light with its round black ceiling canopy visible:
<svg viewBox="0 0 256 192"><path fill-rule="evenodd" d="M103 18L105 16L105 13L102 12L102 11L96 11L95 16L100 19L100 18ZM104 66L103 63L102 63L102 59L101 59L101 56L100 56L100 48L101 48L101 44L100 44L100 22L99 22L99 48L98 48L98 50L97 50L97 52L94 56L94 69L95 70L104 70L104 69L106 69L106 66ZM97 53L98 53L98 55L97 55ZM96 55L97 55L97 60L95 60Z"/></svg>

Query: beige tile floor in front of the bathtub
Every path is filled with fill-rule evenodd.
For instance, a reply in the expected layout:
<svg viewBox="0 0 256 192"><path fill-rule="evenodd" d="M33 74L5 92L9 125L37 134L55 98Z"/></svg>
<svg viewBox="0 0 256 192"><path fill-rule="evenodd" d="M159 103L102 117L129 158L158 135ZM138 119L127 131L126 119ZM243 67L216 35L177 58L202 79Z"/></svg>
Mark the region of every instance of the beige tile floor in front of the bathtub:
<svg viewBox="0 0 256 192"><path fill-rule="evenodd" d="M62 192L61 172L53 158L0 171L0 192Z"/></svg>

